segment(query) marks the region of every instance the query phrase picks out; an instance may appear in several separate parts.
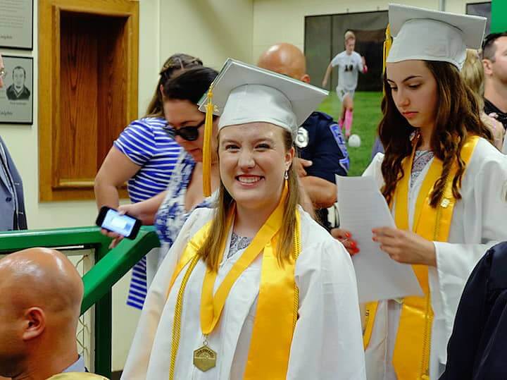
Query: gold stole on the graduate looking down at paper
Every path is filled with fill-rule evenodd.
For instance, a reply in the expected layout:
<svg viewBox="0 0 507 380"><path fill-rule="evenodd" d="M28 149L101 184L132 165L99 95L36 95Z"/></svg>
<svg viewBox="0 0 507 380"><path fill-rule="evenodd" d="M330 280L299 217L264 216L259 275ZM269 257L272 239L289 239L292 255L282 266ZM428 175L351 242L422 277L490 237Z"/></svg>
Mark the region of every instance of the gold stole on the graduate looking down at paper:
<svg viewBox="0 0 507 380"><path fill-rule="evenodd" d="M470 157L479 141L479 137L472 136L461 149L461 159L468 165ZM415 153L415 152L414 152ZM408 230L408 192L413 164L413 156L403 160L404 176L396 186L395 221L396 227ZM430 195L434 183L442 174L442 161L434 157L420 188L415 204L413 231L427 240L445 242L449 238L451 220L456 199L453 197L452 182L458 170L456 162L453 164L446 179L442 200L436 208L430 206ZM422 221L422 223L421 223ZM423 297L403 298L398 333L394 345L393 366L396 376L404 379L429 379L430 346L433 310L431 307L430 288L428 284L428 267L425 265L412 266L417 276ZM368 346L375 323L377 302L366 305L366 321L364 332L364 346Z"/></svg>

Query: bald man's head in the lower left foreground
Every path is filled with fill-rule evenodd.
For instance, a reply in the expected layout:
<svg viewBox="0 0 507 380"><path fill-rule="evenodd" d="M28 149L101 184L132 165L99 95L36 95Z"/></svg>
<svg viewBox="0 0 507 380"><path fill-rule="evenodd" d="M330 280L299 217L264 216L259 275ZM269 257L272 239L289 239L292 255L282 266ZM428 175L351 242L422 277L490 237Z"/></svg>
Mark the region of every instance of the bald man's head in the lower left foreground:
<svg viewBox="0 0 507 380"><path fill-rule="evenodd" d="M81 277L61 252L31 248L1 259L0 375L13 376L32 350L75 345L82 295Z"/></svg>

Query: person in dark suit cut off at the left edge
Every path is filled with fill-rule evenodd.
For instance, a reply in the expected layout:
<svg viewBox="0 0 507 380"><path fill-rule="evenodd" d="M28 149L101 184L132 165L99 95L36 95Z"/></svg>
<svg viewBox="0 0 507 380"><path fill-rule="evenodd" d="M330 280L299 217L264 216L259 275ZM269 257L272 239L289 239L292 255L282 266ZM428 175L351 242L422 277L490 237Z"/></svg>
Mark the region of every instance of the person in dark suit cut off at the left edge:
<svg viewBox="0 0 507 380"><path fill-rule="evenodd" d="M0 88L4 87L4 61L0 55ZM25 230L25 200L23 183L0 137L0 231Z"/></svg>

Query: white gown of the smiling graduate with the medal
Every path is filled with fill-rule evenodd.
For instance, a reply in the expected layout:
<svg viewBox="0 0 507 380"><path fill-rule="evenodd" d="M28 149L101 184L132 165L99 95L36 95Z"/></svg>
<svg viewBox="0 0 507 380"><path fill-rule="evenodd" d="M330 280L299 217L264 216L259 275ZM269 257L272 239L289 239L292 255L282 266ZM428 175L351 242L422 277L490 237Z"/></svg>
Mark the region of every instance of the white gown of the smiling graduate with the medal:
<svg viewBox="0 0 507 380"><path fill-rule="evenodd" d="M356 276L349 254L306 212L301 213L301 253L296 261L299 319L292 340L287 379L365 379L361 317ZM177 276L168 300L165 293L187 241L212 216L197 209L154 278L137 326L122 379L168 379L177 291L186 267ZM230 238L229 238L230 239ZM227 247L229 244L227 244ZM215 291L242 255L239 250L220 264ZM216 367L201 372L192 363L203 344L200 326L201 289L206 266L199 262L189 277L183 298L180 346L175 379L242 379L256 316L262 255L237 279L208 345L217 352ZM268 317L268 316L265 316Z"/></svg>

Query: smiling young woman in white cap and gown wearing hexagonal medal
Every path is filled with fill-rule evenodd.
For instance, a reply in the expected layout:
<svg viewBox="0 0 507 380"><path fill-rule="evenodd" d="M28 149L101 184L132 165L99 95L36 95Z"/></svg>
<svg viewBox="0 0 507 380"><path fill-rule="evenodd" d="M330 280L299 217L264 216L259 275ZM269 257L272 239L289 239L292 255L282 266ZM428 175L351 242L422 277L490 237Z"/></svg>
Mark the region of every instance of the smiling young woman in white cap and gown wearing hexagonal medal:
<svg viewBox="0 0 507 380"><path fill-rule="evenodd" d="M365 379L349 254L298 206L297 128L326 92L228 60L211 85L205 195L149 289L123 379ZM206 104L207 103L207 104Z"/></svg>

